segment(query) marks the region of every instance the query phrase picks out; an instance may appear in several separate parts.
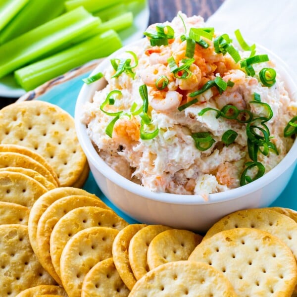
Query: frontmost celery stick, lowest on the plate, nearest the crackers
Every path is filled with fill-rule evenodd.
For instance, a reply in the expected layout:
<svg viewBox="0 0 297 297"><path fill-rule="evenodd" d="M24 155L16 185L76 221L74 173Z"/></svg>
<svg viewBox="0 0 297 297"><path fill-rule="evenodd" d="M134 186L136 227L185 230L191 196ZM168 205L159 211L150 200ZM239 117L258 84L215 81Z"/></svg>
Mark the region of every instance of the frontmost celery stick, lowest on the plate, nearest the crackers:
<svg viewBox="0 0 297 297"><path fill-rule="evenodd" d="M26 91L80 66L90 60L109 55L122 44L113 30L106 31L70 49L15 71L16 81Z"/></svg>

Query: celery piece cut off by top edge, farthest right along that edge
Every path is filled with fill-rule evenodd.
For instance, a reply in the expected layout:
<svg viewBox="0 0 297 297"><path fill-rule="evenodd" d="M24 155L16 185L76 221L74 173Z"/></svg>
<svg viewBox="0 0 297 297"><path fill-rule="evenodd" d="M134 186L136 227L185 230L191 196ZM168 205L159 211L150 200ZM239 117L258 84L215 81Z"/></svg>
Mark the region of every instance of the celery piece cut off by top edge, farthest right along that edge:
<svg viewBox="0 0 297 297"><path fill-rule="evenodd" d="M121 2L122 0L68 0L65 1L66 10L84 6L88 11L95 12Z"/></svg>

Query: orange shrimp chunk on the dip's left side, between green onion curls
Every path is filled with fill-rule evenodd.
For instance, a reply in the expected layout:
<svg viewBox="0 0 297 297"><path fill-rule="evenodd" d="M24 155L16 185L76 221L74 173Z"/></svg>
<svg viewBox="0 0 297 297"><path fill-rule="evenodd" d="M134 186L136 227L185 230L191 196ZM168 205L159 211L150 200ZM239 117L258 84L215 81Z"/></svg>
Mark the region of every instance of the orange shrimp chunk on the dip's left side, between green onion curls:
<svg viewBox="0 0 297 297"><path fill-rule="evenodd" d="M140 138L140 123L132 116L129 118L118 119L113 127L112 138L114 141L129 145Z"/></svg>

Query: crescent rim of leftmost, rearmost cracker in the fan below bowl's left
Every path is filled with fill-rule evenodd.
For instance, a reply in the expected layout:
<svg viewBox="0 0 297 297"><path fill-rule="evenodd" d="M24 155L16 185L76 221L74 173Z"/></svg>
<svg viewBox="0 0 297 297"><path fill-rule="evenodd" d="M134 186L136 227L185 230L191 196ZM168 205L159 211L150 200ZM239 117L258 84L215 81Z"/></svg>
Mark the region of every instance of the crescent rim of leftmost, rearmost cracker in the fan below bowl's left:
<svg viewBox="0 0 297 297"><path fill-rule="evenodd" d="M37 225L40 217L46 211L49 205L52 204L54 201L66 196L71 196L71 195L83 195L83 196L89 196L92 198L97 198L94 194L90 194L85 190L72 188L72 187L64 187L64 188L56 188L56 189L50 190L49 192L42 195L39 199L37 199L37 201L32 206L29 214L28 230L29 230L30 242L36 254L38 254L36 232L37 232Z"/></svg>

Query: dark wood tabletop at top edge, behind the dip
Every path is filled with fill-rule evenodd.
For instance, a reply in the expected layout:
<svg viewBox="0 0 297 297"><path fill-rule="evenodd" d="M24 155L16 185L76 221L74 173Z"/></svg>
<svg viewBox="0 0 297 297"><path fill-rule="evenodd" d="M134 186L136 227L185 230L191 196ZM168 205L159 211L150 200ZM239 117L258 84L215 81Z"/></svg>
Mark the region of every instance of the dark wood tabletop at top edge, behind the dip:
<svg viewBox="0 0 297 297"><path fill-rule="evenodd" d="M223 2L224 0L149 0L149 24L171 21L178 11L188 16L201 15L207 20Z"/></svg>

